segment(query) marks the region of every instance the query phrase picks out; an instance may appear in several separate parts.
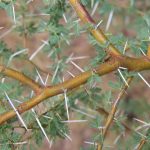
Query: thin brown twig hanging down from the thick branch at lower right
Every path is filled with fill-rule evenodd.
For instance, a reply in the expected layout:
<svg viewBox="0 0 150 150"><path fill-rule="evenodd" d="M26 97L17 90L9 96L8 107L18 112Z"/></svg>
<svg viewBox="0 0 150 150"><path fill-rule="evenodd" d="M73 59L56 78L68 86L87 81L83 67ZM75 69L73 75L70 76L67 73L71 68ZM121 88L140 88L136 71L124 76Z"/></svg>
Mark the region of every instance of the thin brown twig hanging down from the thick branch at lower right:
<svg viewBox="0 0 150 150"><path fill-rule="evenodd" d="M130 82L132 81L132 77L128 78L127 83L130 84ZM121 100L121 98L124 96L126 90L127 90L128 86L125 84L124 87L122 88L121 92L119 93L118 98L115 100L115 102L112 105L111 111L107 117L106 123L104 125L104 129L102 130L102 136L103 136L103 140L106 138L106 134L108 132L109 127L111 126L113 120L114 120L114 116L117 110L117 106ZM97 150L102 150L103 147L103 143L98 144Z"/></svg>

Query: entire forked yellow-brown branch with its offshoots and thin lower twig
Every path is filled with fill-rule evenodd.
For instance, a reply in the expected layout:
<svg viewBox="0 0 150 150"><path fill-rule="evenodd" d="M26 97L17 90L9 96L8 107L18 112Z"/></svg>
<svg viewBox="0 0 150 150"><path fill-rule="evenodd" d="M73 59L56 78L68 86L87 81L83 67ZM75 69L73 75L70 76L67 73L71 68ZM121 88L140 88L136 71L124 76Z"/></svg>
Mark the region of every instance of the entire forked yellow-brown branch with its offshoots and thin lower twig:
<svg viewBox="0 0 150 150"><path fill-rule="evenodd" d="M52 96L56 96L58 94L64 93L64 90L70 91L76 87L79 87L80 85L87 82L88 78L94 73L102 76L105 74L108 74L112 71L117 70L119 67L127 68L128 71L143 71L143 70L149 70L150 69L150 46L148 48L147 56L140 57L140 58L134 58L134 57L128 57L125 55L122 55L115 46L109 42L105 34L102 32L99 27L97 27L95 21L90 17L87 10L84 8L84 6L80 3L79 0L68 0L72 7L75 9L76 13L78 14L79 18L85 23L85 24L91 24L88 28L88 31L95 37L95 39L100 42L101 44L108 43L107 47L107 54L110 55L110 58L103 64L101 64L97 68L93 68L92 70L86 71L84 73L79 74L78 76L74 77L73 79L69 79L67 81L64 81L63 83L53 85L51 87L42 87L38 83L36 83L34 80L30 79L29 77L25 76L24 74L15 71L13 69L7 68L5 66L0 65L0 73L17 79L21 83L28 85L30 88L34 90L36 93L36 96L27 100L26 102L20 104L16 109L21 114L27 110L30 110L34 106L38 105L42 101L44 101L47 98L50 98ZM132 77L128 78L127 82L128 84L131 82ZM119 104L120 99L124 95L127 85L125 85L117 100L113 103L111 112L109 113L105 128L103 129L103 137L106 137L106 134L108 132L108 129L113 122L115 112L117 110L117 106ZM8 112L5 112L0 115L0 125L5 123L7 120L13 118L16 116L16 113L14 110L10 110ZM146 139L142 139L139 144L139 150L140 147L144 145L146 142ZM98 144L97 150L102 149L103 144Z"/></svg>

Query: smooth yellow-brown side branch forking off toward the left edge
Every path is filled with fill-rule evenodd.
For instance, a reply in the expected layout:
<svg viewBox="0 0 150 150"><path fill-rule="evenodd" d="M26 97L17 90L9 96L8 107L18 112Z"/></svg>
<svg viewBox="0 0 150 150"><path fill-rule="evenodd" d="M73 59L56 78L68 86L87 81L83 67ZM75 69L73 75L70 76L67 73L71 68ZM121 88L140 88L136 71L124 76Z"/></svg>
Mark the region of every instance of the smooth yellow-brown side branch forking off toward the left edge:
<svg viewBox="0 0 150 150"><path fill-rule="evenodd" d="M30 79L23 73L20 73L16 70L13 70L13 69L10 69L10 68L0 65L0 73L6 75L8 77L11 77L13 79L16 79L23 84L28 85L35 91L35 93L39 93L42 90L42 87L38 83L36 83L34 80Z"/></svg>

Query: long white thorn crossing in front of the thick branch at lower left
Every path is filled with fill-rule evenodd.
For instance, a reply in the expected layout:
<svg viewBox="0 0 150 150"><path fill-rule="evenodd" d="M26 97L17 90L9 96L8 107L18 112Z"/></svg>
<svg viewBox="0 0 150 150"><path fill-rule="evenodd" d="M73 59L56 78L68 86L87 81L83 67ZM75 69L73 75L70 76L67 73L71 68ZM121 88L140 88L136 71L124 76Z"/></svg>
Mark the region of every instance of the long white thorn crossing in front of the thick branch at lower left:
<svg viewBox="0 0 150 150"><path fill-rule="evenodd" d="M23 119L22 119L22 117L20 116L18 110L16 109L16 107L15 107L14 104L12 103L12 101L11 101L11 99L9 98L8 94L7 94L6 92L4 92L4 93L5 93L5 96L6 96L7 100L8 100L8 102L9 102L9 104L10 104L11 107L14 109L15 113L17 114L18 119L20 120L20 122L22 123L22 125L25 127L25 129L28 131L28 128L27 128L25 122L23 121Z"/></svg>

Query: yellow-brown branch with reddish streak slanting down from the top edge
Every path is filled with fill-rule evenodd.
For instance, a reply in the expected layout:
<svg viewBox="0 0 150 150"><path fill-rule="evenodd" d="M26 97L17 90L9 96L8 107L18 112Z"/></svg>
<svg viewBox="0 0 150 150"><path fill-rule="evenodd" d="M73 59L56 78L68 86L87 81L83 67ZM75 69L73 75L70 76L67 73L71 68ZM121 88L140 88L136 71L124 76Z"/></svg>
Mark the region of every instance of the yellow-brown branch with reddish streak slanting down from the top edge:
<svg viewBox="0 0 150 150"><path fill-rule="evenodd" d="M84 22L84 24L91 24L93 26L89 27L89 31L95 37L95 39L101 44L105 44L106 42L108 42L109 45L107 47L107 50L109 53L113 53L114 55L121 55L119 50L109 42L103 31L99 28L96 28L95 21L91 18L85 7L80 3L80 0L69 0L69 2L75 9L79 18Z"/></svg>

